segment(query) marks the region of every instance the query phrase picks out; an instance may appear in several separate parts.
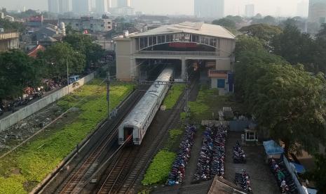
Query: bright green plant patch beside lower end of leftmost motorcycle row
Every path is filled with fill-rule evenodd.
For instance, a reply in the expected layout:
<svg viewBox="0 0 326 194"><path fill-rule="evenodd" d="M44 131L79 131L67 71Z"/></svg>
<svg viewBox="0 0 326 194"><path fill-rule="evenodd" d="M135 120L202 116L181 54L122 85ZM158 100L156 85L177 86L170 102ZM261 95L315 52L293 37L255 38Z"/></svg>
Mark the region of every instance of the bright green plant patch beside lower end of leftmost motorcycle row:
<svg viewBox="0 0 326 194"><path fill-rule="evenodd" d="M147 169L142 184L148 186L166 181L171 170L172 162L175 160L176 156L177 154L167 150L159 151Z"/></svg>

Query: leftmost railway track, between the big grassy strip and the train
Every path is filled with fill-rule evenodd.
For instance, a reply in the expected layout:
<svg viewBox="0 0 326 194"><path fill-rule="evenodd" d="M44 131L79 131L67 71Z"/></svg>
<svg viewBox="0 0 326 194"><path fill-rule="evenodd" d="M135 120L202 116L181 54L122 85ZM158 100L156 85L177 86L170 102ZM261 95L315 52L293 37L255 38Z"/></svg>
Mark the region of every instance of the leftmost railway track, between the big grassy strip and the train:
<svg viewBox="0 0 326 194"><path fill-rule="evenodd" d="M144 91L136 91L135 98L132 99L133 103L130 105L130 109L135 106L135 104L142 98ZM129 110L130 110L129 109ZM123 120L125 115L128 114L129 110L123 111L123 116L118 119L118 122L111 127L111 131L107 133L97 148L93 150L92 153L84 160L83 164L76 169L69 177L69 181L64 184L60 193L79 193L79 190L83 188L85 181L88 179L88 176L91 176L93 172L95 172L95 168L98 166L100 162L100 157L104 155L103 151L107 150L108 146L111 145L116 139L118 134L118 126L120 122ZM109 153L114 153L114 150L109 149Z"/></svg>

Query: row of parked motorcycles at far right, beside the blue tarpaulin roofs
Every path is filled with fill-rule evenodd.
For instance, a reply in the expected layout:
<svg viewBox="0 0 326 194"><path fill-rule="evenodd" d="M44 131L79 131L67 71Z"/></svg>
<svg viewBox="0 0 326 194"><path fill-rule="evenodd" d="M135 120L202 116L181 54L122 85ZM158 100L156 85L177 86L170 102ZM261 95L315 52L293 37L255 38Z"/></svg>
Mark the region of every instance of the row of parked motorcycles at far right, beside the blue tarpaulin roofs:
<svg viewBox="0 0 326 194"><path fill-rule="evenodd" d="M298 193L297 186L282 160L271 158L269 159L269 165L271 167L271 171L278 181L278 186L280 186L281 193Z"/></svg>

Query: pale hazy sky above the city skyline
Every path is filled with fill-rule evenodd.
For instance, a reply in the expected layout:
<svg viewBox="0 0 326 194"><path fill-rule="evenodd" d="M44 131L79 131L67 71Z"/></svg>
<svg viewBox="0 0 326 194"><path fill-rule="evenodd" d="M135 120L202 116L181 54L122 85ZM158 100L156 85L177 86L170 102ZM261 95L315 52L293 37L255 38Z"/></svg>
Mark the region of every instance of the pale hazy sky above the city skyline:
<svg viewBox="0 0 326 194"><path fill-rule="evenodd" d="M93 0L94 1L94 0ZM112 0L116 1L116 0ZM136 11L151 14L186 14L193 15L193 0L131 0ZM306 3L308 0L225 0L226 15L242 15L245 4L254 4L255 13L263 15L297 15L297 4L301 1ZM0 0L0 7L9 10L34 8L47 10L47 0ZM115 4L115 2L113 2ZM308 13L306 13L308 15Z"/></svg>

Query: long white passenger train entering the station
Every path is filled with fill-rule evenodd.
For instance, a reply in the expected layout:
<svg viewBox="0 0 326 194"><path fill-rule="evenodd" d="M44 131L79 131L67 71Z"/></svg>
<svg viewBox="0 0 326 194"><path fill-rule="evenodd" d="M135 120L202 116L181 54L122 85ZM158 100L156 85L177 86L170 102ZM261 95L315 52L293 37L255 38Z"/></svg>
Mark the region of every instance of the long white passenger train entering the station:
<svg viewBox="0 0 326 194"><path fill-rule="evenodd" d="M120 145L128 136L133 136L133 144L140 145L142 143L142 138L144 138L169 89L168 84L157 84L157 82L170 82L172 76L172 67L166 67L135 108L125 117L118 127L118 143Z"/></svg>

